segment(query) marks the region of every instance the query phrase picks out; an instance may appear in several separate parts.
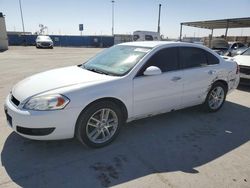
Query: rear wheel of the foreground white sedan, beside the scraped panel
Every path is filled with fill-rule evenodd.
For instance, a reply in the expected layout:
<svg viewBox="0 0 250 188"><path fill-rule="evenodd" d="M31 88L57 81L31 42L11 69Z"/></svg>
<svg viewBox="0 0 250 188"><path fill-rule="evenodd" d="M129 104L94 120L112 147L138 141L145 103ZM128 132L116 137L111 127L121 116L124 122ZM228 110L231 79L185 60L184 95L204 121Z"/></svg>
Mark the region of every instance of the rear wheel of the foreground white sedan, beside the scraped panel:
<svg viewBox="0 0 250 188"><path fill-rule="evenodd" d="M208 112L217 112L223 106L227 95L227 89L221 82L216 82L211 87L203 104Z"/></svg>

